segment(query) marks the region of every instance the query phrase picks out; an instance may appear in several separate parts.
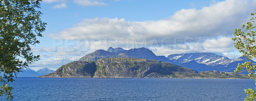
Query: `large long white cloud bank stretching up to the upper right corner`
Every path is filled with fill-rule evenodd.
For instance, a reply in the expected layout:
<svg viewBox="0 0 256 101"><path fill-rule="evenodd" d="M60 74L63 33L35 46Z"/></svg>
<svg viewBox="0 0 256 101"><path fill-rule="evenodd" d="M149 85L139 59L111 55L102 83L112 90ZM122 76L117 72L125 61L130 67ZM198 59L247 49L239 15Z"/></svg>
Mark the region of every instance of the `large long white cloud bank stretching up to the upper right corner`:
<svg viewBox="0 0 256 101"><path fill-rule="evenodd" d="M118 18L84 19L74 27L53 34L52 38L116 40L116 38L134 37L141 40L145 37L163 39L228 36L232 34L235 27L241 26L247 15L252 12L253 6L256 6L256 1L227 0L200 10L182 9L168 19L157 21L136 22Z"/></svg>

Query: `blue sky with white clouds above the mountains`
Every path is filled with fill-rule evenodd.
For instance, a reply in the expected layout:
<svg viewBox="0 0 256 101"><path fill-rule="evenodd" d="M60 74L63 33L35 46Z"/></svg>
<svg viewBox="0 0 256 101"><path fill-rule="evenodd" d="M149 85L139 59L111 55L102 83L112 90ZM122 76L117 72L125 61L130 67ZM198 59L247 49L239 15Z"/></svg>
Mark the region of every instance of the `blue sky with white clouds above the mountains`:
<svg viewBox="0 0 256 101"><path fill-rule="evenodd" d="M231 38L250 19L254 0L43 0L47 23L40 60L29 65L56 70L97 49L146 47L157 56L213 52L236 59Z"/></svg>

